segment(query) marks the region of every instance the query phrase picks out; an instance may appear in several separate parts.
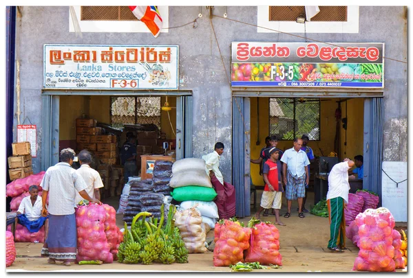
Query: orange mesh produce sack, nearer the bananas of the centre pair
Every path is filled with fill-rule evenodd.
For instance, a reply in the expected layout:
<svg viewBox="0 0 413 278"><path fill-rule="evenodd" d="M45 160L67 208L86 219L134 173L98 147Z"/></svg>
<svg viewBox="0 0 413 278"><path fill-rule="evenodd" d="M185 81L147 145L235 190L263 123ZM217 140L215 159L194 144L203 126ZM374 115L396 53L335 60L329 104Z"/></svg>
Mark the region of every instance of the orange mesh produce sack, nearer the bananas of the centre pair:
<svg viewBox="0 0 413 278"><path fill-rule="evenodd" d="M220 220L215 224L214 266L230 266L244 262L244 250L250 247L251 228L243 226L235 218Z"/></svg>

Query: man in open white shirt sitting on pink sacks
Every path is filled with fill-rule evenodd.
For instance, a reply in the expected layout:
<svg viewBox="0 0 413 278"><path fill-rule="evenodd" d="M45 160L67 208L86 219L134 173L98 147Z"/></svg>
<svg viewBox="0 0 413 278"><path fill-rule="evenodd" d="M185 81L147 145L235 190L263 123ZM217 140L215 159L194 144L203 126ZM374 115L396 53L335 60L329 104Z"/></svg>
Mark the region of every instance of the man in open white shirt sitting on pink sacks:
<svg viewBox="0 0 413 278"><path fill-rule="evenodd" d="M39 196L39 187L31 185L29 187L30 196L21 200L19 209L17 210L16 222L28 228L30 233L36 233L45 225L45 239L49 231L48 216L41 216L42 202ZM17 223L16 223L17 226Z"/></svg>

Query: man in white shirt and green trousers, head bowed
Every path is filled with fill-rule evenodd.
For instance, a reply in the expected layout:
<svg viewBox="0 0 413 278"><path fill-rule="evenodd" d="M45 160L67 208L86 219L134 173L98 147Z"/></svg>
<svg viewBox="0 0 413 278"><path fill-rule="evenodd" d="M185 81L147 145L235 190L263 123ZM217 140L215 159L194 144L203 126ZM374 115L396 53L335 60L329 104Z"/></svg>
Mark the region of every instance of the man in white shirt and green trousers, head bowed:
<svg viewBox="0 0 413 278"><path fill-rule="evenodd" d="M354 166L350 159L334 165L328 175L328 220L330 220L330 240L328 249L333 252L342 253L346 249L346 219L344 209L347 209L348 191L348 170Z"/></svg>

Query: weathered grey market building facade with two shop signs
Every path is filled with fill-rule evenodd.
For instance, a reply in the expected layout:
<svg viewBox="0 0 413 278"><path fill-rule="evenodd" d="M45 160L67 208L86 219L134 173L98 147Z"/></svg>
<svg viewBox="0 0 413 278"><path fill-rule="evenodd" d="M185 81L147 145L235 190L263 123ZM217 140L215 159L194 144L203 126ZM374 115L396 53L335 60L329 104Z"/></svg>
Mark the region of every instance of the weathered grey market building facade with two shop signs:
<svg viewBox="0 0 413 278"><path fill-rule="evenodd" d="M407 175L407 8L343 6L343 19L298 23L300 14L277 19L277 7L160 7L157 38L139 21L87 18L86 8L8 8L8 145L35 128L34 172L79 143L81 115L141 124L140 106L156 101L144 116L176 159L224 143L239 217L251 214L251 181L263 185L250 159L265 137L286 150L304 133L317 157L363 155L362 188L407 221L407 183L390 180Z"/></svg>

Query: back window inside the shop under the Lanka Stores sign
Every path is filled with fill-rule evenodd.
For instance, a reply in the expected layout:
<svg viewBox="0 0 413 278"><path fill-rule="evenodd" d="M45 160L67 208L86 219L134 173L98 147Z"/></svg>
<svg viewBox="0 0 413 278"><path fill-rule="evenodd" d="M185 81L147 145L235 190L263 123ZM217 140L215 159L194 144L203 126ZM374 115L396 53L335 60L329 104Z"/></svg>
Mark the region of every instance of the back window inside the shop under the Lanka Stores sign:
<svg viewBox="0 0 413 278"><path fill-rule="evenodd" d="M111 125L154 124L160 130L160 97L111 97Z"/></svg>

